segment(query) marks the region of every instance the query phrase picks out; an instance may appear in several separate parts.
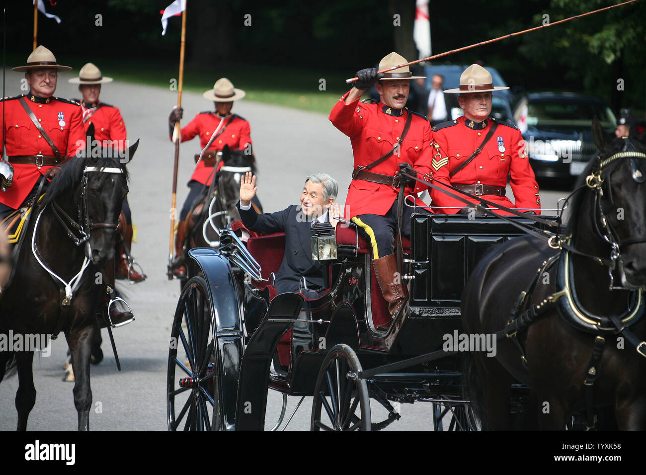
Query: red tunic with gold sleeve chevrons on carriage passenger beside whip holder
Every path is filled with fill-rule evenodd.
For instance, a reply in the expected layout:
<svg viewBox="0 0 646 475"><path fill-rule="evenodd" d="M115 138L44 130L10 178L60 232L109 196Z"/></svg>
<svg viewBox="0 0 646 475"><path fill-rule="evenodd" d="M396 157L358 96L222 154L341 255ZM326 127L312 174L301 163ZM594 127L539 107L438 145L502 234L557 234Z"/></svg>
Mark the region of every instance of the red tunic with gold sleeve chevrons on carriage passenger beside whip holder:
<svg viewBox="0 0 646 475"><path fill-rule="evenodd" d="M483 195L483 198L510 208L540 208L538 184L525 152L521 132L505 122L498 121L494 135L483 150L466 167L449 178L450 171L469 158L485 140L493 121L495 119L488 118L477 123L462 116L433 127L435 180L446 184L480 183L506 187L507 175L510 174L516 204L506 196ZM431 191L431 198L434 206L457 208L444 209L444 213L448 215L454 215L459 208L466 206L463 202L435 189ZM536 214L540 213L540 209L536 209Z"/></svg>

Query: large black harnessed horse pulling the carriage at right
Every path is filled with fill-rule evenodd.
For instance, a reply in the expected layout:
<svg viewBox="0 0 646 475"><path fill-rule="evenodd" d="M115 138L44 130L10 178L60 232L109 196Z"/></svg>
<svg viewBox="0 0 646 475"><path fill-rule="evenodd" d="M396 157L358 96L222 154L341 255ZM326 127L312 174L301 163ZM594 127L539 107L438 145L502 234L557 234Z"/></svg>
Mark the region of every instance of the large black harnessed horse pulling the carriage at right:
<svg viewBox="0 0 646 475"><path fill-rule="evenodd" d="M474 354L485 427L512 428L514 377L541 429L583 411L592 427L592 408L610 408L619 429L646 428L646 137L611 142L597 120L592 132L601 154L578 180L565 233L492 249L464 289L464 330L500 338L495 358Z"/></svg>

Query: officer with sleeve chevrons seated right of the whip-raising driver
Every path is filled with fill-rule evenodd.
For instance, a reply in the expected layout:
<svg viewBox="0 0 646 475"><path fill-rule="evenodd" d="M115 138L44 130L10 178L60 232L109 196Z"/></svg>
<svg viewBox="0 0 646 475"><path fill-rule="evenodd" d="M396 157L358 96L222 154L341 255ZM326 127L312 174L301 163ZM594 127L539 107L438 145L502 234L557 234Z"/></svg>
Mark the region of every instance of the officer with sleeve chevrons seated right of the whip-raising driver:
<svg viewBox="0 0 646 475"><path fill-rule="evenodd" d="M474 64L460 76L459 88L444 91L460 94L457 102L464 116L433 127L434 178L496 204L539 214L538 184L521 133L514 125L489 117L491 93L501 89L509 88L494 87L491 74ZM485 138L488 140L482 145ZM479 147L480 153L472 158ZM505 196L508 174L515 204ZM437 189L431 191L431 198L433 205L443 207L446 214L474 212L473 207Z"/></svg>

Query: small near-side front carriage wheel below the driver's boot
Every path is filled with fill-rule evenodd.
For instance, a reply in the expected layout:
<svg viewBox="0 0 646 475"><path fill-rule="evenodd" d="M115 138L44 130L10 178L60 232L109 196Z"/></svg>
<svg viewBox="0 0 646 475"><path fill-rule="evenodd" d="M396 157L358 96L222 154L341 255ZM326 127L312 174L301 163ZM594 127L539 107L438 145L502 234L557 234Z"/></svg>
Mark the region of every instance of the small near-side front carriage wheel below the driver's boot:
<svg viewBox="0 0 646 475"><path fill-rule="evenodd" d="M337 344L318 372L312 403L311 430L370 430L370 397L357 354Z"/></svg>

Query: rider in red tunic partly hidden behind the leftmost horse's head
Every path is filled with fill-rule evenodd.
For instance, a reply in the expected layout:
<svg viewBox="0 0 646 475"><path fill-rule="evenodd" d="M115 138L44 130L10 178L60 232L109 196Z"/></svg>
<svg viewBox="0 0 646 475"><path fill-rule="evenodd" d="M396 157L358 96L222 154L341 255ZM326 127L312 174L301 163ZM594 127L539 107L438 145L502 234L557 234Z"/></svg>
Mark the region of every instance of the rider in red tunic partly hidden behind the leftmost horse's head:
<svg viewBox="0 0 646 475"><path fill-rule="evenodd" d="M78 84L79 91L83 96L83 99L79 102L83 111L85 131L87 132L90 125L94 124L95 140L115 151L123 152L126 150L126 130L121 112L116 107L99 101L101 84L112 82L112 78L103 76L98 67L92 63L87 63L81 68L79 77L68 79L68 82ZM141 282L146 278L146 275L140 274L134 266L130 265L134 260L130 256L130 249L132 248L132 215L127 196L123 200L121 211L123 211L126 222L125 229L122 231L123 239L119 240L115 249L118 259L116 278L128 279L133 283Z"/></svg>

